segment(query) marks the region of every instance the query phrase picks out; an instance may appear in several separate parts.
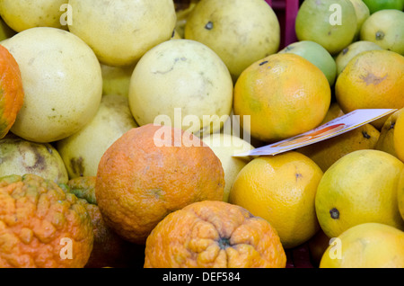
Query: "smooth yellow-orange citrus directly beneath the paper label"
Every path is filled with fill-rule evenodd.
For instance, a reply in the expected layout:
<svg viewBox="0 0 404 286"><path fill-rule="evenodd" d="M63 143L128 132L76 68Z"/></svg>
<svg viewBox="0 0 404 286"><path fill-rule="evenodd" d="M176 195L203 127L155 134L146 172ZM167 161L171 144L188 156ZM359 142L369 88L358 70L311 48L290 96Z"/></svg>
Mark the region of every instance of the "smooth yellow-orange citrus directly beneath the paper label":
<svg viewBox="0 0 404 286"><path fill-rule="evenodd" d="M257 157L237 175L229 202L267 219L282 245L292 248L320 229L314 198L321 175L318 165L294 151Z"/></svg>

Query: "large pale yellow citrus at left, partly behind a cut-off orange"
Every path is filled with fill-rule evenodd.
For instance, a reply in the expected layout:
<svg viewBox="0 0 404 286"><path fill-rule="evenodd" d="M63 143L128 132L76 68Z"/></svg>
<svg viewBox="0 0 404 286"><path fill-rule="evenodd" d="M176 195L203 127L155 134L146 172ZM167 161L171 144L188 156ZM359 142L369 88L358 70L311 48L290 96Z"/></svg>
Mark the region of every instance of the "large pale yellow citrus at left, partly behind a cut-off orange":
<svg viewBox="0 0 404 286"><path fill-rule="evenodd" d="M11 131L48 143L64 139L92 120L101 103L100 62L69 31L36 27L4 43L17 61L24 99Z"/></svg>

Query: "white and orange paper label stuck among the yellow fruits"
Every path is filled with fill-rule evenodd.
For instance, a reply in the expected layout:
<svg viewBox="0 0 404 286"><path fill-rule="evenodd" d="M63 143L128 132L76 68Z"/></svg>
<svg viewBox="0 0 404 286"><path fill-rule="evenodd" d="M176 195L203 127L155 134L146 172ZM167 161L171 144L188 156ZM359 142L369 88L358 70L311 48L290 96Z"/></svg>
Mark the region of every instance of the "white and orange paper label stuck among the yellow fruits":
<svg viewBox="0 0 404 286"><path fill-rule="evenodd" d="M336 137L396 111L397 109L358 109L354 112L344 114L313 130L304 132L303 134L267 146L257 147L248 152L234 154L233 156L276 155L298 147L307 146L325 139Z"/></svg>

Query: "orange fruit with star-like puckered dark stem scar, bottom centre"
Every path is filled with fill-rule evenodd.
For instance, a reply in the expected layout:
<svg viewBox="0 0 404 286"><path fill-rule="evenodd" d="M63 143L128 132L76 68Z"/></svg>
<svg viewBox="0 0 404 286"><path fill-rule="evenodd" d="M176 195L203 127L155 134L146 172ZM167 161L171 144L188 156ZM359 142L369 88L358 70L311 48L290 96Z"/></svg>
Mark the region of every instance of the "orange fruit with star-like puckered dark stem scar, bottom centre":
<svg viewBox="0 0 404 286"><path fill-rule="evenodd" d="M145 245L145 268L284 268L277 230L225 201L198 201L169 214Z"/></svg>

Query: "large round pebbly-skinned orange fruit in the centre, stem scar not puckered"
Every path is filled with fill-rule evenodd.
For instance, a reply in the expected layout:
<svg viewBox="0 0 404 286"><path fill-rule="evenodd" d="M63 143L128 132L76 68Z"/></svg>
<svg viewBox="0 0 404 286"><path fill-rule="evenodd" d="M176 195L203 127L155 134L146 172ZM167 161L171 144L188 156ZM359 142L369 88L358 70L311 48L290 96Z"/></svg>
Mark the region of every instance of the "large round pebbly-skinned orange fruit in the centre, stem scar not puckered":
<svg viewBox="0 0 404 286"><path fill-rule="evenodd" d="M188 131L154 124L116 140L101 157L95 183L106 223L137 244L170 212L223 196L224 169L212 149Z"/></svg>

